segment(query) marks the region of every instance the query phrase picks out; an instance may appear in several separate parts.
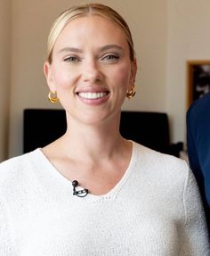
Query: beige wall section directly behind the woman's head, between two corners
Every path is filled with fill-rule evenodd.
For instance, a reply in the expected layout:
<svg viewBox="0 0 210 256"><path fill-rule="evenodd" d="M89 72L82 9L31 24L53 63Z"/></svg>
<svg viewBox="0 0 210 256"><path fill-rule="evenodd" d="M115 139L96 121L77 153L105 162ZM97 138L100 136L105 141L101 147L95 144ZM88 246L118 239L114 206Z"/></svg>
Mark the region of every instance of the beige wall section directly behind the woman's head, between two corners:
<svg viewBox="0 0 210 256"><path fill-rule="evenodd" d="M79 2L84 1L13 1L10 157L22 153L23 109L52 107L46 99L48 88L42 70L46 38L58 14ZM124 109L165 111L166 0L157 4L153 0L98 2L122 13L133 30L141 71L137 95Z"/></svg>

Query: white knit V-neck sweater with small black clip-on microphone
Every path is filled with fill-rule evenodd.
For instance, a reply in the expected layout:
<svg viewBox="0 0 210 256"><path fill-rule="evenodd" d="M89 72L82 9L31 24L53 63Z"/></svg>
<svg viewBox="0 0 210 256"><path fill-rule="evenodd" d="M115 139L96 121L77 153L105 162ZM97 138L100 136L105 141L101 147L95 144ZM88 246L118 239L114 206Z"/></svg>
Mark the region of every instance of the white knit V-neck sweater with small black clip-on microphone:
<svg viewBox="0 0 210 256"><path fill-rule="evenodd" d="M0 164L1 256L206 256L198 187L177 158L133 143L108 194L72 194L40 149Z"/></svg>

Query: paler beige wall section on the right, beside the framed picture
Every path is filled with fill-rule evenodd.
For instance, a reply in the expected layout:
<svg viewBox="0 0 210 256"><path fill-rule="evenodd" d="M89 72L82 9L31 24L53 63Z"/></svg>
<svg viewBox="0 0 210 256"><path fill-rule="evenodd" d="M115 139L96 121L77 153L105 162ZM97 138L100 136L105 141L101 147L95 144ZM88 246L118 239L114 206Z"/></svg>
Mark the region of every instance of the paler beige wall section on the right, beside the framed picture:
<svg viewBox="0 0 210 256"><path fill-rule="evenodd" d="M210 59L210 1L168 0L167 112L174 141L186 139L186 62Z"/></svg>

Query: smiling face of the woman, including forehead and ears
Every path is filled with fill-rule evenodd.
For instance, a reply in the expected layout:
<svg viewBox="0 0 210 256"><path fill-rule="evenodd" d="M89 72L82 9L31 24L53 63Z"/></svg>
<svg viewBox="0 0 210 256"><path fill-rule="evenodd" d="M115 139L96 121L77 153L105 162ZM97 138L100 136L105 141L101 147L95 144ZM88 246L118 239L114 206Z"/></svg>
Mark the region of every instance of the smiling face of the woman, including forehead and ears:
<svg viewBox="0 0 210 256"><path fill-rule="evenodd" d="M44 73L69 118L95 123L118 115L134 84L124 32L100 16L70 21L57 38Z"/></svg>

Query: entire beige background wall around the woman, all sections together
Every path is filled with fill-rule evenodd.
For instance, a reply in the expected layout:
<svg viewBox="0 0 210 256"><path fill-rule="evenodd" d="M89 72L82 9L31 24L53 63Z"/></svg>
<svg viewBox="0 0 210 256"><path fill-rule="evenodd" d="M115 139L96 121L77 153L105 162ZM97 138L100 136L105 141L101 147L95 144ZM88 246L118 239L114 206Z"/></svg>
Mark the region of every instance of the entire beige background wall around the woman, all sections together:
<svg viewBox="0 0 210 256"><path fill-rule="evenodd" d="M43 75L48 33L63 10L83 2L0 0L0 161L23 152L23 110L52 108ZM120 12L133 33L137 93L123 110L166 112L171 141L185 143L186 62L210 59L210 1L97 2Z"/></svg>

